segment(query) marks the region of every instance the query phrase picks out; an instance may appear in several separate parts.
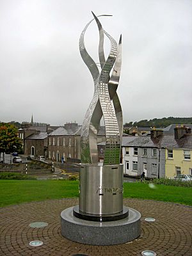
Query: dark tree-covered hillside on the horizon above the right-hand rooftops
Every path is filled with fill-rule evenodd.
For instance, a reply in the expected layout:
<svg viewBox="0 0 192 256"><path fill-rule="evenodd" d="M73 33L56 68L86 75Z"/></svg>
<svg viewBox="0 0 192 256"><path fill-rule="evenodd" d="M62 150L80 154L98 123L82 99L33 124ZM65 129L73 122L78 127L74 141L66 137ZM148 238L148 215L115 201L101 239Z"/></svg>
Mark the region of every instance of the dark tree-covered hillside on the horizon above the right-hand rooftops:
<svg viewBox="0 0 192 256"><path fill-rule="evenodd" d="M134 127L156 127L164 128L170 124L192 124L192 117L164 117L164 118L154 118L150 120L141 120L139 122L129 122L125 123L124 126L134 126Z"/></svg>

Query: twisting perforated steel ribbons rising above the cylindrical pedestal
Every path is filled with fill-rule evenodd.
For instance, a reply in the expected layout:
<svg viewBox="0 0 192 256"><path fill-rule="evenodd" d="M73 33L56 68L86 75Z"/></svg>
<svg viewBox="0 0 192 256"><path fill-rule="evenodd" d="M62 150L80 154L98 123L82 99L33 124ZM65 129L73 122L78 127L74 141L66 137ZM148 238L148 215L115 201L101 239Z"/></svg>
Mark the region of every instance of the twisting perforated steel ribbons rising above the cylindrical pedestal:
<svg viewBox="0 0 192 256"><path fill-rule="evenodd" d="M98 17L100 16L111 15L99 15ZM122 36L120 36L119 44L117 45L113 37L102 28L98 17L94 13L93 17L94 19L90 20L83 29L79 39L81 57L90 70L94 83L93 99L86 112L81 129L81 163L95 164L98 162L97 132L100 119L104 116L106 127L104 165L119 164L122 141L122 108L116 89L120 79ZM93 61L84 45L84 33L93 20L97 22L99 28L100 72L97 63ZM104 35L111 42L111 50L107 60L104 56Z"/></svg>

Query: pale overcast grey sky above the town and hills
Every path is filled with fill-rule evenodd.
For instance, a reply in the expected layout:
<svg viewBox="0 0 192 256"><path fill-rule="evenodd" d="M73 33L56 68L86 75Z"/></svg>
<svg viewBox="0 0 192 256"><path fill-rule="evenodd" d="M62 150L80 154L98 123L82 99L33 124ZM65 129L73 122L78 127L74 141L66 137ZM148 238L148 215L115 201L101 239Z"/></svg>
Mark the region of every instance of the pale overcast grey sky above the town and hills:
<svg viewBox="0 0 192 256"><path fill-rule="evenodd" d="M95 15L118 42L125 122L192 116L191 0L0 0L0 120L82 124L93 80L79 36ZM99 31L85 45L95 62ZM110 44L105 38L106 56Z"/></svg>

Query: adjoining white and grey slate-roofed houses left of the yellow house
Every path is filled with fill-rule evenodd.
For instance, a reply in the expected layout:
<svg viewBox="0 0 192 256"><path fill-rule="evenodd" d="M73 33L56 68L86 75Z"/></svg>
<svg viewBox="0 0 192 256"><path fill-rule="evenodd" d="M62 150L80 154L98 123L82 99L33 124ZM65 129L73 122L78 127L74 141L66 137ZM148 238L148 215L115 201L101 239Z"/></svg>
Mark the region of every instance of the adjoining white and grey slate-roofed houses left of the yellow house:
<svg viewBox="0 0 192 256"><path fill-rule="evenodd" d="M159 147L163 131L152 131L150 136L123 138L122 163L124 174L155 178L165 175L165 149Z"/></svg>

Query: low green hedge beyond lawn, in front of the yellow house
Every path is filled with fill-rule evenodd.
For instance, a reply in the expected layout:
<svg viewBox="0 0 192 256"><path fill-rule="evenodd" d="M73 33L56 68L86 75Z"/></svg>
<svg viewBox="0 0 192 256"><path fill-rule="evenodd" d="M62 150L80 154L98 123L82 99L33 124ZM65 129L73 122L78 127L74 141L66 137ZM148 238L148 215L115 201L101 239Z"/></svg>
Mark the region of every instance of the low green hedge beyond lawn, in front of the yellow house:
<svg viewBox="0 0 192 256"><path fill-rule="evenodd" d="M141 181L140 181L141 182ZM142 183L149 184L157 184L157 185L168 185L168 186L179 186L179 187L192 187L192 181L181 181L181 180L175 180L175 179L168 179L168 178L160 178L160 179L151 179L151 180L143 180Z"/></svg>

